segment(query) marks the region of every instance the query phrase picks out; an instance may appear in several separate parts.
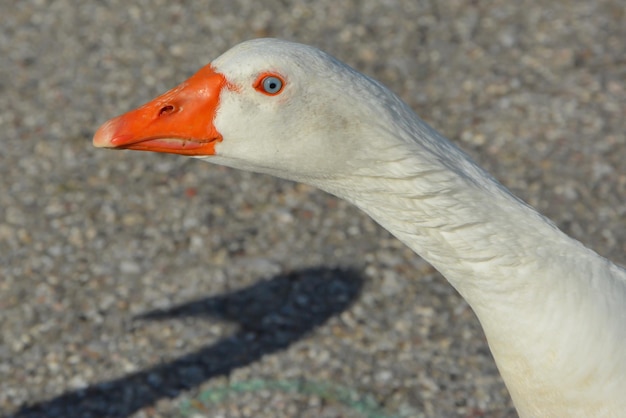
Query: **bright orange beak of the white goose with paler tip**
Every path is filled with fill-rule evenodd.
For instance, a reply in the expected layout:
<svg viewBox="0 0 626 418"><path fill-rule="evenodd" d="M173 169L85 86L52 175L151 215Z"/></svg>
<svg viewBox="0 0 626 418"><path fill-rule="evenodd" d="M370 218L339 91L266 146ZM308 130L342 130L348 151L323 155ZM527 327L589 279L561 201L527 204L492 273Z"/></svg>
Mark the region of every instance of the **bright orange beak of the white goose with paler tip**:
<svg viewBox="0 0 626 418"><path fill-rule="evenodd" d="M222 136L213 120L226 78L211 65L145 105L113 118L93 137L98 148L214 155Z"/></svg>

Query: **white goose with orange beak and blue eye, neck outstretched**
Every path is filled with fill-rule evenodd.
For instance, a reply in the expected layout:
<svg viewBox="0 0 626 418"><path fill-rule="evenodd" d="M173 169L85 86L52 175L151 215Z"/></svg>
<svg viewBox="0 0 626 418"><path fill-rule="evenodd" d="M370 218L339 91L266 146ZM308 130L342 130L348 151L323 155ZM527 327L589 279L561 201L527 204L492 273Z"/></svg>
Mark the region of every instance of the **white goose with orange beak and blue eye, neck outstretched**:
<svg viewBox="0 0 626 418"><path fill-rule="evenodd" d="M471 305L520 416L626 416L626 271L324 52L244 42L105 123L94 145L196 156L352 202Z"/></svg>

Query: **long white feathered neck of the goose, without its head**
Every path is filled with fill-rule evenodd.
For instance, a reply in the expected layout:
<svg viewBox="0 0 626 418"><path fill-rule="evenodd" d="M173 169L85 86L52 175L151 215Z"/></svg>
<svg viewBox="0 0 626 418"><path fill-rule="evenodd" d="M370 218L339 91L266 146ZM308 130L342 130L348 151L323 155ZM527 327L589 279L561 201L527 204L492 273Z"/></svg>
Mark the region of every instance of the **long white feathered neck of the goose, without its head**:
<svg viewBox="0 0 626 418"><path fill-rule="evenodd" d="M438 136L419 123L414 135ZM405 138L312 183L368 213L459 291L521 416L626 411L626 272L436 143Z"/></svg>

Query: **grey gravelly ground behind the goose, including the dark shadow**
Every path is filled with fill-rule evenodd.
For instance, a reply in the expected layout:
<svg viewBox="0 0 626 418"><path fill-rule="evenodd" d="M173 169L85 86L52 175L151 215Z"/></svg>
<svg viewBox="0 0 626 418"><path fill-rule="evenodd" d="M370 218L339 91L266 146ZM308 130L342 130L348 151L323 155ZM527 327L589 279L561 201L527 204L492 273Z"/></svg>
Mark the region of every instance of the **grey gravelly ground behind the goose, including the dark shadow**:
<svg viewBox="0 0 626 418"><path fill-rule="evenodd" d="M321 47L626 264L623 0L0 6L0 413L511 417L476 318L348 204L106 119L230 46Z"/></svg>

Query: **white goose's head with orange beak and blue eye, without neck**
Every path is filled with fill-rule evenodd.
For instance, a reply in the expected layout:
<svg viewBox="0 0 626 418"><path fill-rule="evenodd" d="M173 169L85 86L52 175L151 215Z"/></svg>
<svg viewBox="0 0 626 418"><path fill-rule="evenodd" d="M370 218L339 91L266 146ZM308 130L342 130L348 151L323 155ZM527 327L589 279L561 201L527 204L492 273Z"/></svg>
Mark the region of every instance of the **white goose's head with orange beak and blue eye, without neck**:
<svg viewBox="0 0 626 418"><path fill-rule="evenodd" d="M256 39L105 123L94 145L206 158L320 186L388 148L391 113L412 115L404 107L316 48Z"/></svg>

